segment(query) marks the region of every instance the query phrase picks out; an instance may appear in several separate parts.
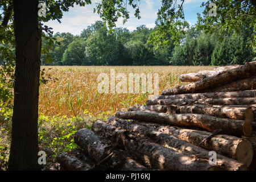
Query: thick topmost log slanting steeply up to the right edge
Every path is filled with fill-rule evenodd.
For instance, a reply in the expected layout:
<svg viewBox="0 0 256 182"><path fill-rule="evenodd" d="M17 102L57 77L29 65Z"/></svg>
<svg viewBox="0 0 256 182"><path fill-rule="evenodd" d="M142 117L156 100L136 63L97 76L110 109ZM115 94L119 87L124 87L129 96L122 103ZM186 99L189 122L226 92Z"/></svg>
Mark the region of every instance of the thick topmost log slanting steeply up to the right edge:
<svg viewBox="0 0 256 182"><path fill-rule="evenodd" d="M192 82L187 85L178 86L173 89L164 90L162 95L183 94L183 93L196 93L201 90L214 88L219 84L232 82L241 78L246 78L256 75L256 61L246 63L241 67L230 69L226 72L204 78L203 80Z"/></svg>

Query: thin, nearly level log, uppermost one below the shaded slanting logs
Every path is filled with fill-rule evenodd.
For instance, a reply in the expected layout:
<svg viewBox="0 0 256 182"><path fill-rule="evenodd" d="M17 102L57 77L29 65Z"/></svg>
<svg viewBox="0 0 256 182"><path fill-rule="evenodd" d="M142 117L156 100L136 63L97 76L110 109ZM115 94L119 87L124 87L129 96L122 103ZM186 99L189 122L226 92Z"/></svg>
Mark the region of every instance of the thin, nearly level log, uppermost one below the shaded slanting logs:
<svg viewBox="0 0 256 182"><path fill-rule="evenodd" d="M236 98L236 97L256 97L256 90L242 90L237 92L212 92L177 94L170 96L156 96L155 99L203 99L203 98Z"/></svg>

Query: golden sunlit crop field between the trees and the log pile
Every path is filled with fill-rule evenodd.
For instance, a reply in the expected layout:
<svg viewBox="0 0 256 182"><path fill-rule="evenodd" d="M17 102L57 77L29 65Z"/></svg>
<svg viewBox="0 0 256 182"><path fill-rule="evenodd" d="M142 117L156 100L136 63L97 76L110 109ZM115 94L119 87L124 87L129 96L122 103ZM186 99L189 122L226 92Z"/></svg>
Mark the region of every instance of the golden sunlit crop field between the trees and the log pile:
<svg viewBox="0 0 256 182"><path fill-rule="evenodd" d="M110 80L110 69L115 69L115 75L125 73L127 82L129 73L159 73L159 94L180 82L183 73L198 72L213 67L42 67L45 75L51 75L46 84L40 85L39 112L45 115L111 115L120 110L126 110L134 104L146 104L148 93L98 93L97 77L106 73ZM46 76L46 78L48 78ZM117 84L118 81L115 81ZM127 83L128 84L128 83ZM154 89L154 77L152 81ZM127 86L128 87L128 86ZM153 93L154 94L154 93Z"/></svg>

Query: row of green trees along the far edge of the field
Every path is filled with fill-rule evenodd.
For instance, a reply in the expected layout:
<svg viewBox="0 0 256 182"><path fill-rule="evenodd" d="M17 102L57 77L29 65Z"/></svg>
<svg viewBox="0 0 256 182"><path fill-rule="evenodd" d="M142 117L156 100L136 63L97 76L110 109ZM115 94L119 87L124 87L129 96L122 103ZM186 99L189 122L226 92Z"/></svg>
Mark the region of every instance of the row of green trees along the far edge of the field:
<svg viewBox="0 0 256 182"><path fill-rule="evenodd" d="M253 27L242 27L240 33L220 36L206 34L191 27L179 46L151 44L150 34L156 28L139 26L134 31L114 28L109 32L97 21L81 34L57 32L52 39L43 39L49 52L42 54L44 65L226 65L244 64L255 56L251 46ZM171 37L170 37L171 39ZM50 46L50 47L49 47ZM48 48L47 48L48 47ZM51 60L51 61L49 61Z"/></svg>

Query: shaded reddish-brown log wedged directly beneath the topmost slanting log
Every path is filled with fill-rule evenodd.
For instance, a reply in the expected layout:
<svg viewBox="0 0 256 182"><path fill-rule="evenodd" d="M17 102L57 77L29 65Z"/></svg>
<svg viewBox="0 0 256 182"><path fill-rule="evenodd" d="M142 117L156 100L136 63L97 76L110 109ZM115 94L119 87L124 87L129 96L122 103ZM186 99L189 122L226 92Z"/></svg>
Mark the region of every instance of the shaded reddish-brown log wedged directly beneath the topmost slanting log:
<svg viewBox="0 0 256 182"><path fill-rule="evenodd" d="M204 92L232 92L238 90L253 90L256 89L256 76L242 78L237 81L221 84L214 88L205 89Z"/></svg>

